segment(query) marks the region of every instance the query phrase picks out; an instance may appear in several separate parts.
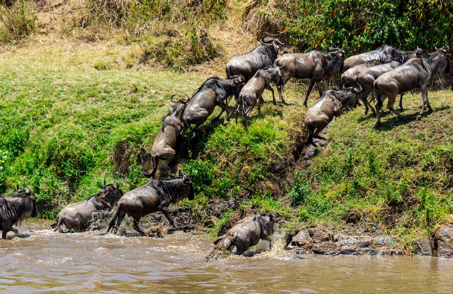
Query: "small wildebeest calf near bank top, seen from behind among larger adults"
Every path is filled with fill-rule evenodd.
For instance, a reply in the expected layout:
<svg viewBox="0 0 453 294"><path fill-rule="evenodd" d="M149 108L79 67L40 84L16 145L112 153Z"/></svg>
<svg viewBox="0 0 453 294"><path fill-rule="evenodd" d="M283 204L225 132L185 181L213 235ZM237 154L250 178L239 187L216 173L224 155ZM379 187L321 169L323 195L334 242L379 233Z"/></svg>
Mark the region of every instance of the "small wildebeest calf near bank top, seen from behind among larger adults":
<svg viewBox="0 0 453 294"><path fill-rule="evenodd" d="M250 116L253 108L258 102L258 110L260 109L260 100L263 95L264 89L267 89L272 92L272 99L274 105L275 96L274 89L270 86L271 83L278 84L281 81L281 72L278 68L273 66L266 66L264 68L258 69L252 79L250 79L247 84L242 88L239 93L238 105L236 109L236 122L238 122L238 112L239 108L242 106L242 114L246 121L246 129L249 127L247 118ZM246 105L248 106L246 110Z"/></svg>

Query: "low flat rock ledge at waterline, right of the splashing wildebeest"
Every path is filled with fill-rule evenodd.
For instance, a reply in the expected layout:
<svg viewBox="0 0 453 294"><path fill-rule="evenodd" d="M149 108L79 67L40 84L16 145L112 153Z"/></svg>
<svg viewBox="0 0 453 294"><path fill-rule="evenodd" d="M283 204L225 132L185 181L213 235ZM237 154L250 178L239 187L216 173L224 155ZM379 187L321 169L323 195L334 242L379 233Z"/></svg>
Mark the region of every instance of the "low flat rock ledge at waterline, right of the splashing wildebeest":
<svg viewBox="0 0 453 294"><path fill-rule="evenodd" d="M325 226L299 231L286 249L299 254L321 255L399 255L389 237L349 236L334 234Z"/></svg>

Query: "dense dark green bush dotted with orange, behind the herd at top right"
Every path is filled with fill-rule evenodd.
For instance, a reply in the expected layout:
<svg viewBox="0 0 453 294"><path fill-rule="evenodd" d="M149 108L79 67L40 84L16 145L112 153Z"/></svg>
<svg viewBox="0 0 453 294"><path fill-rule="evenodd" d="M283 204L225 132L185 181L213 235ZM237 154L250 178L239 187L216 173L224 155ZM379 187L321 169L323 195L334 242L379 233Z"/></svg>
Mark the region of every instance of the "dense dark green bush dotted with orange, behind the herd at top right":
<svg viewBox="0 0 453 294"><path fill-rule="evenodd" d="M294 7L286 10L286 30L299 48L324 49L335 42L357 53L383 44L413 50L453 43L448 1L286 0L283 7Z"/></svg>

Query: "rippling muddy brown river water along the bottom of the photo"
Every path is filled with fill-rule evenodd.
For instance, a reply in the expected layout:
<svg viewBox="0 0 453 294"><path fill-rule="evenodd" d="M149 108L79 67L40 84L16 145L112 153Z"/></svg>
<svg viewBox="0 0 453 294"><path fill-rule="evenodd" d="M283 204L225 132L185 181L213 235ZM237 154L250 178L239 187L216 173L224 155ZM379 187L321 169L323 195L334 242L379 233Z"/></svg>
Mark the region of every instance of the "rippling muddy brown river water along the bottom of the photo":
<svg viewBox="0 0 453 294"><path fill-rule="evenodd" d="M271 251L205 262L214 240L207 235L63 234L47 220L26 225L21 237L0 240L0 293L453 293L448 259L295 258L277 239Z"/></svg>

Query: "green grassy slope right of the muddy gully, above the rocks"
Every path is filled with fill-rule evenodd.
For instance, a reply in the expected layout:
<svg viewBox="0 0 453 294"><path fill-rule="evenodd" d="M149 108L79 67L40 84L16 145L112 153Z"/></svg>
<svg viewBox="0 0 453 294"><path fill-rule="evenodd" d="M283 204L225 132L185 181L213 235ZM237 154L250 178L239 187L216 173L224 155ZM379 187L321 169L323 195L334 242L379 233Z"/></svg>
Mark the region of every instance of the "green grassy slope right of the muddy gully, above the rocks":
<svg viewBox="0 0 453 294"><path fill-rule="evenodd" d="M410 243L453 220L453 94L429 92L434 111L415 120L421 94L403 98L408 118L388 112L381 128L355 109L337 118L329 143L289 193L299 222L359 223Z"/></svg>

